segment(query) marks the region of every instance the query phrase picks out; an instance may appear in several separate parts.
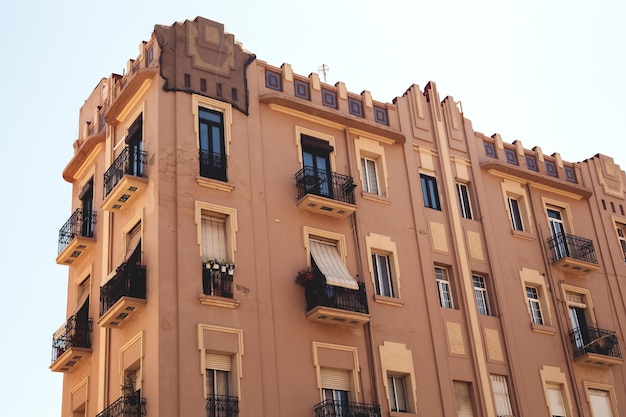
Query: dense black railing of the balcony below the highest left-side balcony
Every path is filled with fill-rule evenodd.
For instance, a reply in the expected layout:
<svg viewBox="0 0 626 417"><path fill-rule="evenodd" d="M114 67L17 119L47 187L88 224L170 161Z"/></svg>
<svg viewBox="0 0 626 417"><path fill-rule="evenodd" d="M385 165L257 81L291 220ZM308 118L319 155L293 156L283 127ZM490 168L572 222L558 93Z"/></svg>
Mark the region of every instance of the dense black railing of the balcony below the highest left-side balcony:
<svg viewBox="0 0 626 417"><path fill-rule="evenodd" d="M100 288L100 317L122 297L146 299L146 267L123 263L115 276Z"/></svg>

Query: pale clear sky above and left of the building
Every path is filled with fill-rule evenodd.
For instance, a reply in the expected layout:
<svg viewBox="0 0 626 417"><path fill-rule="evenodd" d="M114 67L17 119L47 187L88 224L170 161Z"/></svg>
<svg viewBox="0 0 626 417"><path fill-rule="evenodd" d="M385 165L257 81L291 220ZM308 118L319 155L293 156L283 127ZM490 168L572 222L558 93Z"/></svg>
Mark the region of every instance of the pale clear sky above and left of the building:
<svg viewBox="0 0 626 417"><path fill-rule="evenodd" d="M55 263L72 209L61 173L81 104L155 24L204 16L260 60L304 76L326 64L330 84L381 102L432 80L476 131L626 168L623 1L35 0L0 10L3 416L61 414L62 374L48 369L67 319L67 267Z"/></svg>

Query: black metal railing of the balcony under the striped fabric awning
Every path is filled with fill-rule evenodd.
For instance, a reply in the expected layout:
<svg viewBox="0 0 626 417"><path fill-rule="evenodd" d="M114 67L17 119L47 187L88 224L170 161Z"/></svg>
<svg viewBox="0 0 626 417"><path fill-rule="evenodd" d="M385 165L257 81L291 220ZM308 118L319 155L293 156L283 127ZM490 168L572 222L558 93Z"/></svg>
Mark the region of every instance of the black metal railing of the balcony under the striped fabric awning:
<svg viewBox="0 0 626 417"><path fill-rule="evenodd" d="M358 290L328 285L324 275L315 271L314 278L303 284L307 311L323 306L368 314L365 284L358 284Z"/></svg>

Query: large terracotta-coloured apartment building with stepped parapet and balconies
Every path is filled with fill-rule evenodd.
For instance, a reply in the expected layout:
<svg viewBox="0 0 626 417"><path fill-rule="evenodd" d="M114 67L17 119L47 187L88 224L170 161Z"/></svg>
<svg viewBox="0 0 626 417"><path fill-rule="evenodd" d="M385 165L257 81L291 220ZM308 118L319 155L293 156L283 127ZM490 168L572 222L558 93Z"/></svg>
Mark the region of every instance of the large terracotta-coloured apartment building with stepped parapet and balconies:
<svg viewBox="0 0 626 417"><path fill-rule="evenodd" d="M63 416L626 414L626 174L156 26L80 110Z"/></svg>

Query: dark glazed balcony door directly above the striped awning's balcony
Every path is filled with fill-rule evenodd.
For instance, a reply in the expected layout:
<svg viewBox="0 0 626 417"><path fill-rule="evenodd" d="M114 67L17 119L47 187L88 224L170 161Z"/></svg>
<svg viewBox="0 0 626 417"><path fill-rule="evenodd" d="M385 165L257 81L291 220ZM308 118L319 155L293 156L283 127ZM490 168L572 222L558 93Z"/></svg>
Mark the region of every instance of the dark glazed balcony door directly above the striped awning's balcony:
<svg viewBox="0 0 626 417"><path fill-rule="evenodd" d="M302 165L306 191L311 194L333 198L330 153L328 142L302 135Z"/></svg>

